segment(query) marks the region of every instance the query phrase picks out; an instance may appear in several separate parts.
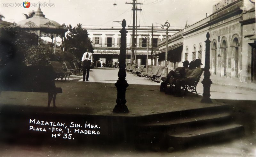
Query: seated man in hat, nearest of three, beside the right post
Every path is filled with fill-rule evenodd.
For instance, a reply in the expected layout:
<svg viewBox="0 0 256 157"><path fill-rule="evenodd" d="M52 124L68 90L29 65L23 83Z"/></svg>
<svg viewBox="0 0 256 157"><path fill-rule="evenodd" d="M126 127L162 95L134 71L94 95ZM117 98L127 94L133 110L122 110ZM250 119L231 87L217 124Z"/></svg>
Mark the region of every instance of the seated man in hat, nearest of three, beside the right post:
<svg viewBox="0 0 256 157"><path fill-rule="evenodd" d="M183 85L189 85L192 82L196 81L200 74L202 73L202 69L200 65L203 65L201 63L201 59L195 60L196 69L185 79L177 79L175 84L175 96L182 96L180 87Z"/></svg>

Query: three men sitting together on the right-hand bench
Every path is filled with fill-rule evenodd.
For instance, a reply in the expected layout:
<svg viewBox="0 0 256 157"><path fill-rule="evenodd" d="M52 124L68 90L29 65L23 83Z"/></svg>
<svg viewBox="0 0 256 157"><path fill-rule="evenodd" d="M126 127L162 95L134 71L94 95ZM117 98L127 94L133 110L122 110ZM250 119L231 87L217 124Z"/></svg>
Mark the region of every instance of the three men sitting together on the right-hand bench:
<svg viewBox="0 0 256 157"><path fill-rule="evenodd" d="M184 68L179 71L179 74L171 70L168 73L167 77L161 78L164 81L161 83L161 90L165 91L167 84L172 84L175 88L171 89L170 91L174 91L175 96L182 96L180 88L184 85L189 85L195 82L201 75L201 65L203 65L201 63L201 59L196 59L195 61L191 61L190 63L188 60L186 60L182 63Z"/></svg>

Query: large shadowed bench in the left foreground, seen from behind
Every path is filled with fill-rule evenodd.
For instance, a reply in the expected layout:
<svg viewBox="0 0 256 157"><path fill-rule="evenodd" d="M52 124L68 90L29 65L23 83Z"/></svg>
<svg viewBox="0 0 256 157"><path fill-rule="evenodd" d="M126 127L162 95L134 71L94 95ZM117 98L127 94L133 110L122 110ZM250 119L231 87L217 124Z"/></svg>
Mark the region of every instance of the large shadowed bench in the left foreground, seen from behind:
<svg viewBox="0 0 256 157"><path fill-rule="evenodd" d="M62 93L62 89L55 86L54 71L51 66L19 66L15 69L14 71L13 66L6 66L0 71L0 93L1 91L48 93L47 106L50 107L53 100L53 107L56 107L56 95Z"/></svg>

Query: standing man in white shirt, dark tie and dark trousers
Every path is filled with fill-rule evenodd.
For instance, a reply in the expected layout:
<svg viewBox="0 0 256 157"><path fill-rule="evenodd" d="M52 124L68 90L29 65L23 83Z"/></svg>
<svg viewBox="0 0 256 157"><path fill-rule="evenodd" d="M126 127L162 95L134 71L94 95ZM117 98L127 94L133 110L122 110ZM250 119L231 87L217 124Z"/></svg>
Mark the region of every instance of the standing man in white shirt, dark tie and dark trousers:
<svg viewBox="0 0 256 157"><path fill-rule="evenodd" d="M87 49L87 52L84 53L82 57L82 62L83 63L83 81L85 81L85 74L86 74L86 81L89 81L89 72L90 72L90 67L92 66L92 52L89 52Z"/></svg>

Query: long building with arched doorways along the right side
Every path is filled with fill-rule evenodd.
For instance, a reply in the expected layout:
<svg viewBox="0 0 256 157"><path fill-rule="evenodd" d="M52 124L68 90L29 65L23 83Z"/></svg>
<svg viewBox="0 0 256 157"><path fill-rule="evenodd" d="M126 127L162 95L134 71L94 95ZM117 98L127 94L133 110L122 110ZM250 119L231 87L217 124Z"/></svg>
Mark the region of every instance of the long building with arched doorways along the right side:
<svg viewBox="0 0 256 157"><path fill-rule="evenodd" d="M180 53L180 49L174 53L181 54L181 60L173 62L169 59L169 67L182 66L180 61L192 61L196 58L202 59L204 64L207 32L212 41L211 75L256 83L255 4L249 0L221 0L214 4L210 16L180 31L182 52ZM168 47L177 44L174 39L178 34L179 32L169 37ZM160 52L164 49L165 42L160 42L158 47ZM168 54L171 53L168 49Z"/></svg>

